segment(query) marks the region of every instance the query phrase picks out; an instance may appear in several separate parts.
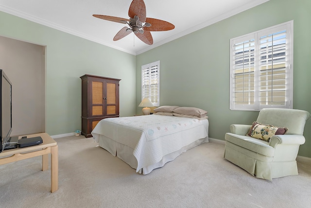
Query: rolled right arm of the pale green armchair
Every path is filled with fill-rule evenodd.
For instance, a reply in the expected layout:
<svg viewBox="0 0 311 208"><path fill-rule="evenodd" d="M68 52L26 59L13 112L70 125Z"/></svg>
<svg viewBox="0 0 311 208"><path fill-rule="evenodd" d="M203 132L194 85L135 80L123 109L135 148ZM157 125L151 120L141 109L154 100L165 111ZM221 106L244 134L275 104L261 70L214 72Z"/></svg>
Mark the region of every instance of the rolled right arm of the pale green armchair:
<svg viewBox="0 0 311 208"><path fill-rule="evenodd" d="M306 141L305 137L300 134L286 134L286 135L275 135L271 137L269 145L273 148L277 144L304 144Z"/></svg>

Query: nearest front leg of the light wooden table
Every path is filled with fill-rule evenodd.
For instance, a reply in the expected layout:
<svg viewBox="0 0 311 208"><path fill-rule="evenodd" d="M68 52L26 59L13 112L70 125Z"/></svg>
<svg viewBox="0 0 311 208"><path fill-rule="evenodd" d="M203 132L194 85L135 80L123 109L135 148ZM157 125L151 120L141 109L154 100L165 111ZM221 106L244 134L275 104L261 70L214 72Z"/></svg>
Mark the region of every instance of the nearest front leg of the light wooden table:
<svg viewBox="0 0 311 208"><path fill-rule="evenodd" d="M58 190L58 146L51 147L51 192Z"/></svg>

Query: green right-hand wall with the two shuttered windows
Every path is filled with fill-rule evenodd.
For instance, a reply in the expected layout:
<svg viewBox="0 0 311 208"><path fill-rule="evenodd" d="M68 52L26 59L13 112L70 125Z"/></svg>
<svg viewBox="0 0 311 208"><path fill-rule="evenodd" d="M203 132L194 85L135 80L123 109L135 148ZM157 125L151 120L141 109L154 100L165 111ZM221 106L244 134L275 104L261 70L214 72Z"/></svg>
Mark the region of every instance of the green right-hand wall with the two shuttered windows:
<svg viewBox="0 0 311 208"><path fill-rule="evenodd" d="M160 60L160 105L207 110L209 137L224 140L230 124L251 124L259 113L229 110L230 38L294 19L294 108L311 112L310 9L311 0L270 0L137 55L136 106L141 65ZM311 120L304 136L299 155L311 157Z"/></svg>

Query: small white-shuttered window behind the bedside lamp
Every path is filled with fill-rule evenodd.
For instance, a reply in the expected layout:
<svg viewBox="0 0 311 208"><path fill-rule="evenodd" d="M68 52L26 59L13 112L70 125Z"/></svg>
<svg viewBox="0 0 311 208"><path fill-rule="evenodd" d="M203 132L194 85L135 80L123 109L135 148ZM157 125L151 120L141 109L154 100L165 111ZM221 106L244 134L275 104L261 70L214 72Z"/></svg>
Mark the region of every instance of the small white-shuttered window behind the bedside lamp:
<svg viewBox="0 0 311 208"><path fill-rule="evenodd" d="M154 106L159 106L160 61L141 66L141 100L149 98Z"/></svg>

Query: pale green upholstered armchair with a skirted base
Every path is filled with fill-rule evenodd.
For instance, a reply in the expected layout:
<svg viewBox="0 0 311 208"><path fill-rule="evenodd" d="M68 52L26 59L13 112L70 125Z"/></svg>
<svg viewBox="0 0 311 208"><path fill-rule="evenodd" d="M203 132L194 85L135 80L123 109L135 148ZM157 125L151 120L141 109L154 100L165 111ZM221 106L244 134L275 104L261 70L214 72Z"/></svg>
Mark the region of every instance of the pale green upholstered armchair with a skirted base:
<svg viewBox="0 0 311 208"><path fill-rule="evenodd" d="M266 141L254 138L254 125L230 125L231 133L225 134L225 159L258 178L272 180L287 175L298 175L296 157L299 145L305 143L303 131L309 118L310 113L304 110L262 109L257 118L258 123L268 127L284 127L282 130L287 128L287 132L271 136ZM265 128L261 128L262 132L267 133ZM258 131L256 133L259 134Z"/></svg>

